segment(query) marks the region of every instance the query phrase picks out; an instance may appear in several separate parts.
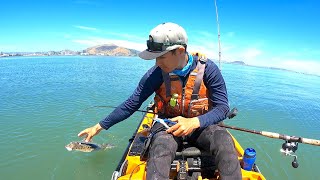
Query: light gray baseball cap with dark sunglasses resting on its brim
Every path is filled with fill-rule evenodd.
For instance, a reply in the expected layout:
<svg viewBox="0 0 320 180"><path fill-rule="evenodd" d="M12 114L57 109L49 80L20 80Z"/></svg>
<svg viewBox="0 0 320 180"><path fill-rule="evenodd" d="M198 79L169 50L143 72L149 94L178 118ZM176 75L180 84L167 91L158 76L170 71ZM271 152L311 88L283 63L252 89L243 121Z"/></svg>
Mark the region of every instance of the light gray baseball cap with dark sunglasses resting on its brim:
<svg viewBox="0 0 320 180"><path fill-rule="evenodd" d="M139 57L145 60L156 59L171 50L186 47L187 44L188 36L181 26L170 22L162 23L150 31L148 49L139 53Z"/></svg>

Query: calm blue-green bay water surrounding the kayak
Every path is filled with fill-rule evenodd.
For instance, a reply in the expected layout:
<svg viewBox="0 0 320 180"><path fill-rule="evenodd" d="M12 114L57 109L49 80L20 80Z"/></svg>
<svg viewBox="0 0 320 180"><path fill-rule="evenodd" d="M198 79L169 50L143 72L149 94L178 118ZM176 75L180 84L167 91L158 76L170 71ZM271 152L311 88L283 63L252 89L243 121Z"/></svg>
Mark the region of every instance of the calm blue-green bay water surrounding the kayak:
<svg viewBox="0 0 320 180"><path fill-rule="evenodd" d="M143 113L94 137L116 147L92 153L65 145L98 123L136 88L155 61L137 57L10 57L0 59L1 179L110 179ZM320 77L222 64L230 107L228 125L320 139ZM152 101L150 97L140 109ZM89 109L88 109L89 108ZM267 179L319 179L320 147L299 144L299 168L283 156L283 140L230 130L257 151Z"/></svg>

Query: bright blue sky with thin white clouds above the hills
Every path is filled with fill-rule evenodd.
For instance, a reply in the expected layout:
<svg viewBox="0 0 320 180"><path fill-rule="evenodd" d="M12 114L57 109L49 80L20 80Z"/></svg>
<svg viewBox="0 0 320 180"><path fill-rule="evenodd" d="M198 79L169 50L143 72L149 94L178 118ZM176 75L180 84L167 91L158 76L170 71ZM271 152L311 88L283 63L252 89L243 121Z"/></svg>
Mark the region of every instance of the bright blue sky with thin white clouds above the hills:
<svg viewBox="0 0 320 180"><path fill-rule="evenodd" d="M222 59L320 74L320 1L217 0ZM214 0L3 0L0 52L143 50L162 22L183 26L189 50L218 59Z"/></svg>

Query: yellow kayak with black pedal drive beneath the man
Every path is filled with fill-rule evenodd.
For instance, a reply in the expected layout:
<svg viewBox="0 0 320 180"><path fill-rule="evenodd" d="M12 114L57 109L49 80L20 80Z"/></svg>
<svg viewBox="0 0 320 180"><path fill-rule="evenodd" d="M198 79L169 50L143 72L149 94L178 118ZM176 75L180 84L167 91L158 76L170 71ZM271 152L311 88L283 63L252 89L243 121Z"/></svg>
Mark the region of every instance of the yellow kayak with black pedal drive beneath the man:
<svg viewBox="0 0 320 180"><path fill-rule="evenodd" d="M144 141L148 136L147 129L151 127L154 118L155 114L153 113L152 107L150 105L144 117L142 118L135 134L129 140L127 149L125 150L116 170L113 172L111 178L112 180L146 179L147 162L143 158L140 158L140 154L143 151ZM235 144L235 148L238 152L239 163L241 163L244 150L233 136L232 138ZM183 157L184 159L187 159L187 161L181 161L181 159L179 159L179 157L181 157L181 154L184 154ZM195 149L192 149L190 152L178 152L176 154L176 159L171 164L170 179L183 179L181 178L182 170L184 170L186 174L189 174L192 179L219 179L219 173L215 169L216 168L214 167L212 161L205 161L205 153L197 153ZM242 179L244 180L265 179L256 165L253 166L251 171L241 169L241 172ZM189 178L190 177L188 177L188 179Z"/></svg>

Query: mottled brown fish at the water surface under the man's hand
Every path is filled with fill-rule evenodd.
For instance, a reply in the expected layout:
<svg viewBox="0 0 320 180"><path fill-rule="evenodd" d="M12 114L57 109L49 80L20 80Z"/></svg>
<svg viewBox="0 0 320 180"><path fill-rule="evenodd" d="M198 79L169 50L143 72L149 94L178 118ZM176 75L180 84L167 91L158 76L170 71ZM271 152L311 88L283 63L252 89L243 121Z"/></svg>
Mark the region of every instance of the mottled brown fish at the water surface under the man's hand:
<svg viewBox="0 0 320 180"><path fill-rule="evenodd" d="M105 150L114 148L112 144L95 144L90 142L78 142L73 141L65 146L68 151L81 151L81 152L92 152L96 150Z"/></svg>

